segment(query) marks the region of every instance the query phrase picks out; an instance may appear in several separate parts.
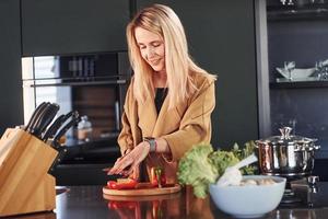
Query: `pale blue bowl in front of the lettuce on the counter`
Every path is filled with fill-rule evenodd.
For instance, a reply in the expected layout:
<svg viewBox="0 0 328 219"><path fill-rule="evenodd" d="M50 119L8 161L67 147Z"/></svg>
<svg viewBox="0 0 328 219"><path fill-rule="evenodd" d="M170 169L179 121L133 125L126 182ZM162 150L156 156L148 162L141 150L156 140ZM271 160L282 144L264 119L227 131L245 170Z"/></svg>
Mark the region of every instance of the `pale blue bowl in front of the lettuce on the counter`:
<svg viewBox="0 0 328 219"><path fill-rule="evenodd" d="M285 178L269 175L247 175L243 180L272 178L270 185L218 186L210 185L210 194L215 206L236 218L261 217L274 210L283 196Z"/></svg>

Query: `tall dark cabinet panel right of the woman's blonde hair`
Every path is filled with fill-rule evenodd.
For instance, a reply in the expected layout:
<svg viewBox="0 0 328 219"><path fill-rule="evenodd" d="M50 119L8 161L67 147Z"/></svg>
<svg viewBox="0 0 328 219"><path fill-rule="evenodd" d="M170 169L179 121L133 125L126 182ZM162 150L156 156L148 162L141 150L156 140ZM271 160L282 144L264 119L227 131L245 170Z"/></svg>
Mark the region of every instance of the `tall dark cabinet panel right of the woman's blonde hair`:
<svg viewBox="0 0 328 219"><path fill-rule="evenodd" d="M218 74L212 114L214 147L258 139L254 1L137 0L172 7L180 18L195 60Z"/></svg>

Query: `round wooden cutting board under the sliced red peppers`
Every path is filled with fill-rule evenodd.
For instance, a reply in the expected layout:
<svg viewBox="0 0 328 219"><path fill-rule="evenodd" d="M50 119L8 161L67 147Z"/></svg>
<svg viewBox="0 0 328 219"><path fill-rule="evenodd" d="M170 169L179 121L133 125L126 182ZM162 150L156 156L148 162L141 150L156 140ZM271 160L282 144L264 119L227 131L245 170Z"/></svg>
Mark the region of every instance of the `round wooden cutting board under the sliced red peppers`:
<svg viewBox="0 0 328 219"><path fill-rule="evenodd" d="M181 186L179 184L157 188L151 187L149 183L139 183L134 189L110 189L107 186L104 186L103 193L116 196L150 196L178 193L180 189Z"/></svg>

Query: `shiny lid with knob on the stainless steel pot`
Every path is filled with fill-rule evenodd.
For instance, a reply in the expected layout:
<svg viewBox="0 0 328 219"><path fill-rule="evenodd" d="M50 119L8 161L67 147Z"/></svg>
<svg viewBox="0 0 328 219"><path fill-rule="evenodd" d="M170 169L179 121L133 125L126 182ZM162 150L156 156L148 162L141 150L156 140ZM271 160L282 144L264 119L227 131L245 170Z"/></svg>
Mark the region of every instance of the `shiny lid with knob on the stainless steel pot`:
<svg viewBox="0 0 328 219"><path fill-rule="evenodd" d="M283 145L283 146L293 146L293 145L309 145L315 142L317 139L306 138L302 136L291 135L291 127L279 128L281 136L272 136L267 139L259 140L259 143L270 143L270 145Z"/></svg>

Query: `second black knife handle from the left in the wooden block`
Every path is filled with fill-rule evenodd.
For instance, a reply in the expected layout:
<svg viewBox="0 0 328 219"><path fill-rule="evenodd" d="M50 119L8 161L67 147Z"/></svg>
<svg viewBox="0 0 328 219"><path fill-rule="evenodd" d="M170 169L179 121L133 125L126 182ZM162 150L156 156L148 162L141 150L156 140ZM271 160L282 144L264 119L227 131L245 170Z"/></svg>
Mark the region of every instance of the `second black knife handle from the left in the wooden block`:
<svg viewBox="0 0 328 219"><path fill-rule="evenodd" d="M34 127L31 130L31 134L42 139L42 132L46 129L46 127L51 123L57 112L59 111L58 104L49 104L45 107L45 110L40 113L35 123Z"/></svg>

